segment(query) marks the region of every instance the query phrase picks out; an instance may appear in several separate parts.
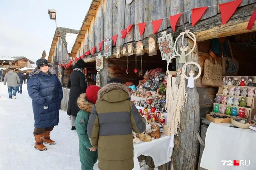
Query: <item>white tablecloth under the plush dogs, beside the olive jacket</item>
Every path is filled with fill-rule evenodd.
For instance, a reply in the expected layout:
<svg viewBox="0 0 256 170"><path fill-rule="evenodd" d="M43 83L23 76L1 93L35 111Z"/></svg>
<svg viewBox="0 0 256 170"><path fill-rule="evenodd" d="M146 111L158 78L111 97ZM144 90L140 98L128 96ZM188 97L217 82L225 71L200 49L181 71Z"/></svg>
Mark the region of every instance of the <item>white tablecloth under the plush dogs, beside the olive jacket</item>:
<svg viewBox="0 0 256 170"><path fill-rule="evenodd" d="M164 165L165 163L171 161L171 155L173 148L170 147L171 136L162 135L159 139L154 139L151 142L140 142L133 144L133 170L140 170L138 156L150 156L153 158L155 167Z"/></svg>

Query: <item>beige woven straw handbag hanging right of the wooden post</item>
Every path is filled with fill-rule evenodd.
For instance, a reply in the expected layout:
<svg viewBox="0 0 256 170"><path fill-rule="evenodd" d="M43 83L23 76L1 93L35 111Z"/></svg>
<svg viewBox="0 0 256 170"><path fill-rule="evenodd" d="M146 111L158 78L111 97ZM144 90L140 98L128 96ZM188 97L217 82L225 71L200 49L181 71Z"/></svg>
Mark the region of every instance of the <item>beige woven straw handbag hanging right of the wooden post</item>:
<svg viewBox="0 0 256 170"><path fill-rule="evenodd" d="M217 63L217 60L214 59L215 64L212 63L212 58L206 59L204 61L204 75L202 78L203 85L208 85L212 87L221 87L222 86L222 67Z"/></svg>

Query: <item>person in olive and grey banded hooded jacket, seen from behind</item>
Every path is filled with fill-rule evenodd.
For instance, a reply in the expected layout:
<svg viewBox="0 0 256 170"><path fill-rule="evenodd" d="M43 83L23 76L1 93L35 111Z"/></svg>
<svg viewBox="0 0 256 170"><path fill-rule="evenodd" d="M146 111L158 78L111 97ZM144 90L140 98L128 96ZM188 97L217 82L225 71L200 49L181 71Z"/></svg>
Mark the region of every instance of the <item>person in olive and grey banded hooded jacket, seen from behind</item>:
<svg viewBox="0 0 256 170"><path fill-rule="evenodd" d="M109 83L98 92L87 133L92 146L98 148L100 170L134 167L132 130L144 132L146 119L141 118L129 97L128 88L120 83Z"/></svg>

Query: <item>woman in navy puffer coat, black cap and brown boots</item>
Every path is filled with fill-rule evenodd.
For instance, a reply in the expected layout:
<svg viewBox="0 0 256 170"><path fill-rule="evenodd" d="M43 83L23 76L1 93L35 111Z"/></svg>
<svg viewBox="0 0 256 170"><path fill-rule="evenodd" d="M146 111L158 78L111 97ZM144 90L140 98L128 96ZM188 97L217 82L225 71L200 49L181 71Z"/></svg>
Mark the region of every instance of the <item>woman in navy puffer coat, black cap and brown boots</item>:
<svg viewBox="0 0 256 170"><path fill-rule="evenodd" d="M37 68L29 73L28 95L32 99L34 112L35 148L44 151L47 148L43 143L55 144L55 141L50 139L50 132L59 124L63 92L54 66L48 65L46 59L38 59L36 65Z"/></svg>

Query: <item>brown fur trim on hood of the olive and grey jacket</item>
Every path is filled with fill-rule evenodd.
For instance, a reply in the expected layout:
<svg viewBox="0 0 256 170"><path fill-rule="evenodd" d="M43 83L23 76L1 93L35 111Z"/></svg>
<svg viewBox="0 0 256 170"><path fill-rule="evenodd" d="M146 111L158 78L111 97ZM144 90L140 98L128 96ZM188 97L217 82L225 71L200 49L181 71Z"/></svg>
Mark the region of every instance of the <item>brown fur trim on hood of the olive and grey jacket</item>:
<svg viewBox="0 0 256 170"><path fill-rule="evenodd" d="M102 101L102 96L112 90L122 90L124 92L126 92L128 94L128 96L130 97L130 92L128 90L127 87L125 87L124 85L120 84L120 83L109 83L108 85L105 85L104 87L102 87L99 92L98 92L98 101Z"/></svg>

